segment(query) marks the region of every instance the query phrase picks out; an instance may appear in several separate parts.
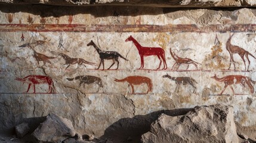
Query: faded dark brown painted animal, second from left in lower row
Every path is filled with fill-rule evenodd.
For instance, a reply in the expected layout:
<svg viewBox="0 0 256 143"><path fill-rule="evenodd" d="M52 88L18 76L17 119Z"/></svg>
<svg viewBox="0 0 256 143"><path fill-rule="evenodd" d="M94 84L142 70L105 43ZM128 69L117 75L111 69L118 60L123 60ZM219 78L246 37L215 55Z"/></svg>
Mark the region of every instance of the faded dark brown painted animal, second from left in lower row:
<svg viewBox="0 0 256 143"><path fill-rule="evenodd" d="M100 88L103 88L100 77L96 77L96 76L76 76L75 78L67 78L67 80L69 81L79 80L80 81L79 87L82 85L82 83L87 85L92 85L92 83L95 83L98 85L98 91L100 90Z"/></svg>

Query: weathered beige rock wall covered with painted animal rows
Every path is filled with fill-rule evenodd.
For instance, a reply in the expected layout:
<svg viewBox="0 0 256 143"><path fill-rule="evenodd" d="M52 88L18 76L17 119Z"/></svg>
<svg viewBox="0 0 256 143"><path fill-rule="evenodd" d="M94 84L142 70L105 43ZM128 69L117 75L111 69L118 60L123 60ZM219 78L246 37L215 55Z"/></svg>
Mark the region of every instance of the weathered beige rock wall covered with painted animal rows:
<svg viewBox="0 0 256 143"><path fill-rule="evenodd" d="M11 132L55 113L78 132L102 136L119 119L217 103L234 107L239 126L254 127L255 14L254 8L0 5L0 128ZM130 36L153 48L139 52L126 42ZM100 56L91 41L113 52ZM104 70L101 58L110 59Z"/></svg>

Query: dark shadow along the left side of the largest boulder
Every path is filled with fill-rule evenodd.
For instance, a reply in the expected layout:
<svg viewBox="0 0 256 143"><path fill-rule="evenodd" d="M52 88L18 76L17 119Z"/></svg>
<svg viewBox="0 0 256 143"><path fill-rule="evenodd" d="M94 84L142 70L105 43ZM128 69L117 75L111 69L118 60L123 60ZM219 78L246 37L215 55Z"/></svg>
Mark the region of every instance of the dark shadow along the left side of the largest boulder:
<svg viewBox="0 0 256 143"><path fill-rule="evenodd" d="M112 142L137 143L140 142L141 135L149 132L150 125L157 120L161 114L181 116L192 110L193 108L161 110L146 115L137 115L132 118L120 119L110 125L104 131L104 135L101 136L100 139Z"/></svg>

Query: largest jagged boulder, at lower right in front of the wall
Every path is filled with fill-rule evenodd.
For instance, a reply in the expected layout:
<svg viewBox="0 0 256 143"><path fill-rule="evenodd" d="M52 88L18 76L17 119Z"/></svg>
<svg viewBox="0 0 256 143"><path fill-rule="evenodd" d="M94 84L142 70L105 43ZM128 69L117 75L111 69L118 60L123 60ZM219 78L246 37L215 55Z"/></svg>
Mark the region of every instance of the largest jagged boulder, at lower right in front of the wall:
<svg viewBox="0 0 256 143"><path fill-rule="evenodd" d="M233 107L195 107L184 116L162 114L144 133L142 142L239 142Z"/></svg>

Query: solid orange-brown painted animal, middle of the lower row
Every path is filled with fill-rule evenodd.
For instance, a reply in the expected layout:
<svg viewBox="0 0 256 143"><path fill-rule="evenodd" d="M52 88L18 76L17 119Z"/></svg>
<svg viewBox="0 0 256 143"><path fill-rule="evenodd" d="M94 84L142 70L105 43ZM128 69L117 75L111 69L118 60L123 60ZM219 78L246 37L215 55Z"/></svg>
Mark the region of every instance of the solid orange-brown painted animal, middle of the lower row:
<svg viewBox="0 0 256 143"><path fill-rule="evenodd" d="M128 76L128 77L125 77L124 79L115 79L115 81L116 82L128 82L129 85L131 85L132 94L134 94L134 85L142 85L143 83L146 83L147 87L149 88L147 90L147 93L152 91L152 88L153 88L152 80L149 79L149 77L144 77L144 76Z"/></svg>

